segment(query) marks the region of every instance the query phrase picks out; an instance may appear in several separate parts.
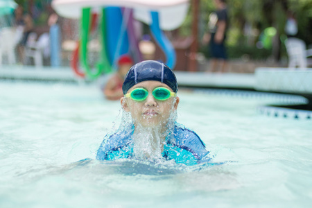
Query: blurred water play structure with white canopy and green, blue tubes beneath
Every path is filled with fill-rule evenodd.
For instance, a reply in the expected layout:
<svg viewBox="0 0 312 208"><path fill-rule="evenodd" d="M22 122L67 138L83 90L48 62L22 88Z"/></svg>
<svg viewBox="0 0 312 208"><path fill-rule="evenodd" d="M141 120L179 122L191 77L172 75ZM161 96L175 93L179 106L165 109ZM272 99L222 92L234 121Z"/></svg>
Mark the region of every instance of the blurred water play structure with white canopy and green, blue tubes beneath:
<svg viewBox="0 0 312 208"><path fill-rule="evenodd" d="M163 30L173 30L182 24L189 8L187 0L53 0L52 6L58 15L81 21L80 40L71 62L77 76L96 79L102 73L110 73L116 69L118 58L125 54L132 56L135 62L143 60L133 24L135 19L150 27L155 42L166 56L162 61L171 69L175 67L175 49ZM87 44L96 23L101 53L95 67L91 67Z"/></svg>

